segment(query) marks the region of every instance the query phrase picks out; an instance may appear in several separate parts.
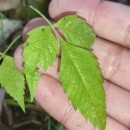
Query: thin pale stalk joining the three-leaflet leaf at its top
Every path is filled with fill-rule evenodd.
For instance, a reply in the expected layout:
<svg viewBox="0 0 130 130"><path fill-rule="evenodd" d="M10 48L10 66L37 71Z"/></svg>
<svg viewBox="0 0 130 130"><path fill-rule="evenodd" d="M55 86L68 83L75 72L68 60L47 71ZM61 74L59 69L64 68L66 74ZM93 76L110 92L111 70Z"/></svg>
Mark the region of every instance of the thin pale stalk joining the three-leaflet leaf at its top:
<svg viewBox="0 0 130 130"><path fill-rule="evenodd" d="M58 34L58 32L57 32L57 30L55 29L55 27L53 26L53 24L52 24L39 10L37 10L34 6L29 5L29 7L30 7L33 11L35 11L37 14L39 14L39 15L50 25L51 29L54 31L54 34L55 34L55 36L56 36L56 39L57 39L58 43L59 43L59 41L60 41L59 39L61 39L61 36Z"/></svg>

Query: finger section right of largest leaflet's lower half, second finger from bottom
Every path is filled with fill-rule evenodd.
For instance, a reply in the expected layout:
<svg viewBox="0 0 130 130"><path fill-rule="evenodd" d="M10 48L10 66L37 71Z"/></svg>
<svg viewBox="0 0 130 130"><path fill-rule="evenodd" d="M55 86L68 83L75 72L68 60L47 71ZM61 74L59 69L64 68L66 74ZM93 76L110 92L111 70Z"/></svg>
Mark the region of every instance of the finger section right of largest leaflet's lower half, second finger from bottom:
<svg viewBox="0 0 130 130"><path fill-rule="evenodd" d="M105 82L107 114L130 128L130 92Z"/></svg>

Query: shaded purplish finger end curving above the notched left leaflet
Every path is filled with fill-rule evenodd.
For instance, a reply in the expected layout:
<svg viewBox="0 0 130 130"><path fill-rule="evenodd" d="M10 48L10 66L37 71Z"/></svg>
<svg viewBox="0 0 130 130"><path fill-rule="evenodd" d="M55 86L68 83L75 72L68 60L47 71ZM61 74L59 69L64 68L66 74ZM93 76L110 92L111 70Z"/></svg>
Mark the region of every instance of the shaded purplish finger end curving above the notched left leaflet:
<svg viewBox="0 0 130 130"><path fill-rule="evenodd" d="M43 26L43 25L47 25L46 21L43 20L43 18L34 18L30 20L23 29L23 33L22 33L23 41L25 41L28 37L27 32L29 32L30 30L36 27Z"/></svg>

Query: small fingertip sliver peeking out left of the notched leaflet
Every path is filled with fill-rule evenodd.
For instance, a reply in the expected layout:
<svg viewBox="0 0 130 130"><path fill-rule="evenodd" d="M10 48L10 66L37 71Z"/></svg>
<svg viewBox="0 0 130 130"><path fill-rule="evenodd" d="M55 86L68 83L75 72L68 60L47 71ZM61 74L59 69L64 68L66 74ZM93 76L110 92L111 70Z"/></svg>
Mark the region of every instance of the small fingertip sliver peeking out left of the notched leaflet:
<svg viewBox="0 0 130 130"><path fill-rule="evenodd" d="M23 46L21 44L17 47L14 53L14 63L20 71L23 71L22 53L23 53Z"/></svg>

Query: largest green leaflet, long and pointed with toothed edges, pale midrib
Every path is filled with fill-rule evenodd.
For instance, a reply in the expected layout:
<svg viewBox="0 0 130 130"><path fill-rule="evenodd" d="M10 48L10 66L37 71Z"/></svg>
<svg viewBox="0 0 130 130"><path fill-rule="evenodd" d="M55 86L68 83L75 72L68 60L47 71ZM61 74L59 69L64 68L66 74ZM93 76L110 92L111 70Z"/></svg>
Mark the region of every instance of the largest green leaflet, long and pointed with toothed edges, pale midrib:
<svg viewBox="0 0 130 130"><path fill-rule="evenodd" d="M61 41L60 80L75 109L100 130L105 129L105 92L92 52Z"/></svg>

